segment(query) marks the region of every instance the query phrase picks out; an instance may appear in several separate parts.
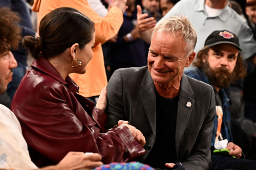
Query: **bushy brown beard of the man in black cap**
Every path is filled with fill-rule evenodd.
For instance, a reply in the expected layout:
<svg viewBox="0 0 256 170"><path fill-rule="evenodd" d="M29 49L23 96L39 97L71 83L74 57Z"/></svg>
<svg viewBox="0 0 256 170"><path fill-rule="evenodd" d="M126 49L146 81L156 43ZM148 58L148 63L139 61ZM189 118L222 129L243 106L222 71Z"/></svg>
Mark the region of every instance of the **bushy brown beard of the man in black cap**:
<svg viewBox="0 0 256 170"><path fill-rule="evenodd" d="M230 84L236 81L233 72L230 73L226 67L212 69L207 59L205 60L202 69L209 82L219 88L227 88Z"/></svg>

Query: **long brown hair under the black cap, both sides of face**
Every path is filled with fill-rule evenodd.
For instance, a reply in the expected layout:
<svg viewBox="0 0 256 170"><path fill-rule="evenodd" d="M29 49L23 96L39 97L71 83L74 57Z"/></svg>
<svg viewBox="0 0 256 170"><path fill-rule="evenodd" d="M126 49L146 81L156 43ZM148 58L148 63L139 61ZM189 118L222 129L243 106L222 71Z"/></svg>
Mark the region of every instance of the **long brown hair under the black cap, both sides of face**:
<svg viewBox="0 0 256 170"><path fill-rule="evenodd" d="M204 46L202 50L197 53L196 59L193 62L193 65L199 69L203 68L203 56L205 55L206 58L208 57L208 52L210 50L209 46ZM241 52L238 53L238 59L236 62L236 66L233 70L234 78L236 79L243 79L246 76L246 68L244 66L244 60L242 58Z"/></svg>

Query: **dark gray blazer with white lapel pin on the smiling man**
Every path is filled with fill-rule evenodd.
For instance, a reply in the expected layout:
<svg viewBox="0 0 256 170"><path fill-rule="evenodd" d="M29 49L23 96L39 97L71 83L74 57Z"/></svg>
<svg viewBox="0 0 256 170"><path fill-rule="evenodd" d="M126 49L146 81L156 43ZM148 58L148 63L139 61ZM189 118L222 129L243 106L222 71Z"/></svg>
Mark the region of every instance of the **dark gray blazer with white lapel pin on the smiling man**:
<svg viewBox="0 0 256 170"><path fill-rule="evenodd" d="M156 89L147 66L118 69L111 77L108 89L106 128L128 120L146 139L146 154L150 153L156 137ZM186 103L191 102L191 107ZM175 148L177 162L186 170L208 169L212 128L216 115L215 94L206 83L182 76L176 122ZM166 146L168 147L168 146ZM175 162L173 162L175 163Z"/></svg>

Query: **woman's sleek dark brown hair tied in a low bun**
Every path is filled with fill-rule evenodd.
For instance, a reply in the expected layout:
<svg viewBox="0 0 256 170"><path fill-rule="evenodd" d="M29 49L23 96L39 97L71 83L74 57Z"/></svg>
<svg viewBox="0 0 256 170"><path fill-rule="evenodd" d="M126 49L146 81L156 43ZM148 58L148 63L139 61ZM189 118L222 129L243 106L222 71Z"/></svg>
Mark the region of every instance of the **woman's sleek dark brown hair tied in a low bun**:
<svg viewBox="0 0 256 170"><path fill-rule="evenodd" d="M35 59L51 58L78 43L83 48L92 40L94 22L74 8L57 8L40 21L40 38L26 36L23 45Z"/></svg>

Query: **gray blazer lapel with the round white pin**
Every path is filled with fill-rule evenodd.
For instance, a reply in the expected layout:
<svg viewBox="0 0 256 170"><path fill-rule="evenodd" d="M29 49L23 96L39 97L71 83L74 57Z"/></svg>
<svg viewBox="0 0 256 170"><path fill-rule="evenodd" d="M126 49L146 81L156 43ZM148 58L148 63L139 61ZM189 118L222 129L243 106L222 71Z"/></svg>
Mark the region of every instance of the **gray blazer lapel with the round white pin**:
<svg viewBox="0 0 256 170"><path fill-rule="evenodd" d="M191 103L191 107L186 106L188 102ZM181 137L183 136L184 131L186 129L190 113L194 107L194 103L195 103L194 93L190 87L187 77L183 75L181 79L178 112L177 112L177 120L176 120L175 148L176 148L177 158L179 153Z"/></svg>

